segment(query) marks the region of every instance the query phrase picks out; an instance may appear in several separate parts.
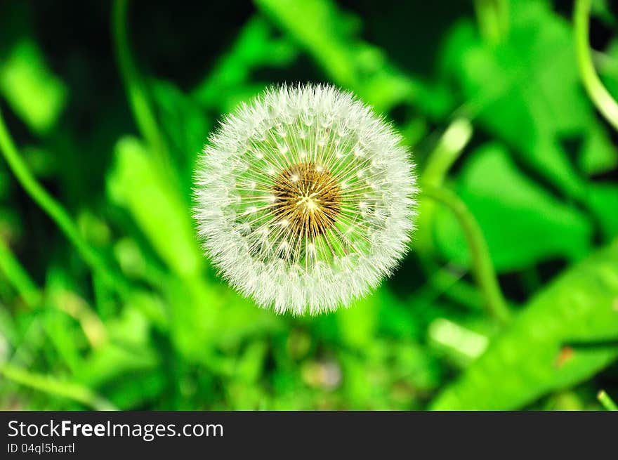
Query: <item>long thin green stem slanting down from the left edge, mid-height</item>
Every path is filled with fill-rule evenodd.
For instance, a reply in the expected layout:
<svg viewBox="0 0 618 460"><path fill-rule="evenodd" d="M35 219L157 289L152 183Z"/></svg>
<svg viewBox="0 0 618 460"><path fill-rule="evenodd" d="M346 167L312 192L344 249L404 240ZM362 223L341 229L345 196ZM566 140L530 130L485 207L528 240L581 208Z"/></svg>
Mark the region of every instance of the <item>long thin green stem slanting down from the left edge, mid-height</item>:
<svg viewBox="0 0 618 460"><path fill-rule="evenodd" d="M18 152L17 147L15 147L15 143L13 143L13 139L4 123L1 110L0 151L27 194L30 195L34 202L41 206L41 209L43 209L56 225L58 225L69 241L77 248L81 258L83 258L95 272L100 274L105 282L114 286L119 292L124 291L124 289L126 289L124 278L117 276L113 270L107 267L100 254L92 249L84 237L81 236L77 229L77 225L75 225L69 213L67 213L63 206L55 201L41 184L37 182L37 179L34 178L32 172L30 172L28 166Z"/></svg>

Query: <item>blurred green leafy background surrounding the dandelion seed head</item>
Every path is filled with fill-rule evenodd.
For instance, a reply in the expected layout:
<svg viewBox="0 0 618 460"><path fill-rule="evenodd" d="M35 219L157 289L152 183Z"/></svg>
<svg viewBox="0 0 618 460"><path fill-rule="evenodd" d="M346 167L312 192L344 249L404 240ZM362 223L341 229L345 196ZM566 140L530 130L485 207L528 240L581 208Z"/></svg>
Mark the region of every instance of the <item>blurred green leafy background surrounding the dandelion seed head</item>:
<svg viewBox="0 0 618 460"><path fill-rule="evenodd" d="M0 409L601 409L599 390L618 396L618 133L582 84L573 11L2 1ZM618 4L590 21L618 96ZM286 81L354 91L456 204L422 197L393 277L320 317L235 294L191 218L217 119ZM486 308L462 215L509 315Z"/></svg>

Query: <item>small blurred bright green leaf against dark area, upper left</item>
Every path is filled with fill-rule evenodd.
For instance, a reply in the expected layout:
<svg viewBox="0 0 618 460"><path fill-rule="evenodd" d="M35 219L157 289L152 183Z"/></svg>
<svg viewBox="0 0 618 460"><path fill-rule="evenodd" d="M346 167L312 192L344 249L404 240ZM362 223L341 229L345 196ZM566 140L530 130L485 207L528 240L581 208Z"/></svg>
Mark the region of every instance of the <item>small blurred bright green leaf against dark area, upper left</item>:
<svg viewBox="0 0 618 460"><path fill-rule="evenodd" d="M32 131L47 133L67 102L67 87L45 63L39 46L22 39L0 65L0 92Z"/></svg>

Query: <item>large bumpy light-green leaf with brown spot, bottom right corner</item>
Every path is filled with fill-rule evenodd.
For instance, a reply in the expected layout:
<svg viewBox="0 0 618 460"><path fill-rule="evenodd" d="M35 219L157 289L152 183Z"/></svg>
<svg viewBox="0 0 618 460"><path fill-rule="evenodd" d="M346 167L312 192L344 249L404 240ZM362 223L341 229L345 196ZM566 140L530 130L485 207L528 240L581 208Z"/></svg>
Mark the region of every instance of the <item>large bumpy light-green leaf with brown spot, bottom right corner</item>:
<svg viewBox="0 0 618 460"><path fill-rule="evenodd" d="M433 401L436 410L520 409L618 357L618 242L561 275Z"/></svg>

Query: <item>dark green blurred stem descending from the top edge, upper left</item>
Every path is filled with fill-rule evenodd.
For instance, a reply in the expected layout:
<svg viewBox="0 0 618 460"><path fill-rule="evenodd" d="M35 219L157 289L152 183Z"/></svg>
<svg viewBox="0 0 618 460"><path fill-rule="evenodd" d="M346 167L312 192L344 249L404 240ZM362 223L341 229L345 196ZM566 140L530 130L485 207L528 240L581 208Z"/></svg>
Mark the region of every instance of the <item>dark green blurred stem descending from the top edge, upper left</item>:
<svg viewBox="0 0 618 460"><path fill-rule="evenodd" d="M155 155L159 156L163 166L169 166L169 155L157 125L157 117L150 107L146 84L131 57L126 24L128 6L128 0L116 0L112 10L112 34L118 66L141 135L154 150Z"/></svg>

